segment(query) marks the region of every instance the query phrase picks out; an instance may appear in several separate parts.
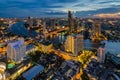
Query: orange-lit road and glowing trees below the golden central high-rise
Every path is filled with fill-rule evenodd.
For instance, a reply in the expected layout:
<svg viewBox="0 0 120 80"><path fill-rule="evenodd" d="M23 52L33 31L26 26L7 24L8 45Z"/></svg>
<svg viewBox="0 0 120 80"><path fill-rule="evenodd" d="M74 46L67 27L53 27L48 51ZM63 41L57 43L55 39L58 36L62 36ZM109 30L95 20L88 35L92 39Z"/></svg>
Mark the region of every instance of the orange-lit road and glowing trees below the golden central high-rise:
<svg viewBox="0 0 120 80"><path fill-rule="evenodd" d="M63 52L61 50L52 49L50 52L53 51L56 55L62 57L65 60L74 60L79 61L83 64L83 68L86 68L88 63L90 62L91 58L95 58L94 53L92 51L84 50L79 56L70 56L68 53ZM76 79L80 79L82 75L82 69L80 69L80 73L76 74Z"/></svg>

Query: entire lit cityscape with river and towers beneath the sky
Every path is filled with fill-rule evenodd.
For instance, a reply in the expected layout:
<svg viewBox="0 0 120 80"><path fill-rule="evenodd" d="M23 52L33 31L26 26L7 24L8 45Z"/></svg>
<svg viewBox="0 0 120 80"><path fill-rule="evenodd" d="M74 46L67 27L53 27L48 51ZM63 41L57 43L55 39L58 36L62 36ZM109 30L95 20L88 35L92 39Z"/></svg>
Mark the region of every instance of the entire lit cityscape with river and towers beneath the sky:
<svg viewBox="0 0 120 80"><path fill-rule="evenodd" d="M0 18L0 80L98 80L119 67L119 46L120 19Z"/></svg>

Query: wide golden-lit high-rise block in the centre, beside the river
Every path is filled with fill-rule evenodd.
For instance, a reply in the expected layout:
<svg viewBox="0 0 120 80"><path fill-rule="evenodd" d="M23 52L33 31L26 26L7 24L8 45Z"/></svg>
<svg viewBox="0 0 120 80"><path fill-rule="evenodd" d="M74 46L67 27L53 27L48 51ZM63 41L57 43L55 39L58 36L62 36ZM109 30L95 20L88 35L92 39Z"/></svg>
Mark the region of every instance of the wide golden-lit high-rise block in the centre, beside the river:
<svg viewBox="0 0 120 80"><path fill-rule="evenodd" d="M69 35L65 42L65 51L77 56L83 50L83 35Z"/></svg>

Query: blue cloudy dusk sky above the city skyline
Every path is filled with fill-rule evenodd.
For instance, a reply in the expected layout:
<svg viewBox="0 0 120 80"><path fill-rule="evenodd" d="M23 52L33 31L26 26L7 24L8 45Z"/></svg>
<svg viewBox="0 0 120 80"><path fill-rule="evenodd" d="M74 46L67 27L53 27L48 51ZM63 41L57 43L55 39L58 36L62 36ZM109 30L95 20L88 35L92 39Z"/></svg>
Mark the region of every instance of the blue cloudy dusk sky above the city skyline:
<svg viewBox="0 0 120 80"><path fill-rule="evenodd" d="M120 0L0 0L0 17L77 17L120 12Z"/></svg>

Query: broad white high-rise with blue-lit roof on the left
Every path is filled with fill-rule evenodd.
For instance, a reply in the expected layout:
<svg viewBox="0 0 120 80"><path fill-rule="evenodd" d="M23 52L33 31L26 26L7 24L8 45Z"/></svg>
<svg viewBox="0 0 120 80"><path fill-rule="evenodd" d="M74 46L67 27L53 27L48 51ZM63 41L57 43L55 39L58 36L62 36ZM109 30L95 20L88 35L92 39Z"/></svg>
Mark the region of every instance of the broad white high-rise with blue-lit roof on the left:
<svg viewBox="0 0 120 80"><path fill-rule="evenodd" d="M26 52L26 45L23 38L20 38L18 41L9 43L7 46L7 58L9 60L14 60L19 62Z"/></svg>

